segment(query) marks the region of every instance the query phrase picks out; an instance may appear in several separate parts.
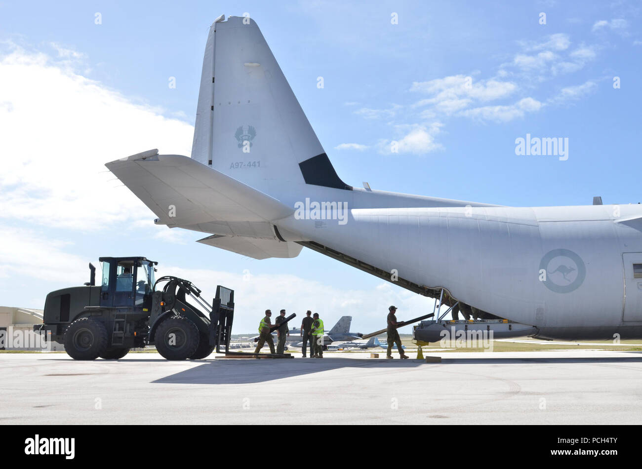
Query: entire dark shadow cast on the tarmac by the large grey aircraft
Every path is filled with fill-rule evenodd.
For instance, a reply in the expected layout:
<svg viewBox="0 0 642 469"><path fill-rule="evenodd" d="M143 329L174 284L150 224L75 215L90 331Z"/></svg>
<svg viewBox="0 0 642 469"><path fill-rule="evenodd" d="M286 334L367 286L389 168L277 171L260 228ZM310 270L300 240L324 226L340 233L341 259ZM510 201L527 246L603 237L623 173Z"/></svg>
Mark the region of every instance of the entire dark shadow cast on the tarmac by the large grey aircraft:
<svg viewBox="0 0 642 469"><path fill-rule="evenodd" d="M444 357L442 357L444 358ZM157 360L155 360L157 361ZM272 381L319 371L340 368L415 368L426 366L426 372L435 370L433 366L444 364L617 364L642 363L640 357L562 357L562 358L444 358L442 363L425 363L420 360L363 360L363 359L325 359L319 360L238 360L215 359L202 361L203 364L189 370L154 380L154 383L175 384L249 384ZM432 365L432 366L428 366Z"/></svg>

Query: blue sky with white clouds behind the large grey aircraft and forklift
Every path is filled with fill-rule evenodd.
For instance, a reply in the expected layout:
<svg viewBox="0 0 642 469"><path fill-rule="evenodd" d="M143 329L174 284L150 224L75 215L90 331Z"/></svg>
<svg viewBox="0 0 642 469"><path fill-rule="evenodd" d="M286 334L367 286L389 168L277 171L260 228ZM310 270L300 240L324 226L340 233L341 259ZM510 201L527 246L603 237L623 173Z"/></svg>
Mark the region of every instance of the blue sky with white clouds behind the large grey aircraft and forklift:
<svg viewBox="0 0 642 469"><path fill-rule="evenodd" d="M189 155L209 25L247 12L347 183L503 205L638 203L641 11L633 1L0 2L0 305L41 308L48 291L85 282L100 255L145 255L205 291L236 288L237 332L267 307L313 309L326 323L351 314L361 332L379 328L390 303L419 316L431 302L317 253L257 261L153 226L102 165L149 148ZM526 133L568 138L568 160L516 155Z"/></svg>

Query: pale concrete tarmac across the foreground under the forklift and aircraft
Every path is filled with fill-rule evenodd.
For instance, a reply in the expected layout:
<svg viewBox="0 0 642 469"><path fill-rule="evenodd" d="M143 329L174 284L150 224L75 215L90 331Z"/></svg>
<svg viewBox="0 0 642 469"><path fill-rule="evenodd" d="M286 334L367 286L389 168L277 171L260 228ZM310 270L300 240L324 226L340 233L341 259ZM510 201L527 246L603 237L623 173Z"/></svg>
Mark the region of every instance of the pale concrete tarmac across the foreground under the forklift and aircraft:
<svg viewBox="0 0 642 469"><path fill-rule="evenodd" d="M4 424L636 423L642 352L73 361L0 354ZM346 358L350 355L350 358Z"/></svg>

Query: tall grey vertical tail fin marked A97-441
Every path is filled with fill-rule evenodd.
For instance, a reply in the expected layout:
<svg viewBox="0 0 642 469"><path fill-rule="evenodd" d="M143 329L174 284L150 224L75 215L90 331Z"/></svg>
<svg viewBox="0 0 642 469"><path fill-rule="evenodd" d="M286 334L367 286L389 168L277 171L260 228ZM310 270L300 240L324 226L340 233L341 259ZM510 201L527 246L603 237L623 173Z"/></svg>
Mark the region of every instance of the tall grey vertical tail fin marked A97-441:
<svg viewBox="0 0 642 469"><path fill-rule="evenodd" d="M349 189L256 22L217 21L205 46L191 157L275 198L305 183Z"/></svg>

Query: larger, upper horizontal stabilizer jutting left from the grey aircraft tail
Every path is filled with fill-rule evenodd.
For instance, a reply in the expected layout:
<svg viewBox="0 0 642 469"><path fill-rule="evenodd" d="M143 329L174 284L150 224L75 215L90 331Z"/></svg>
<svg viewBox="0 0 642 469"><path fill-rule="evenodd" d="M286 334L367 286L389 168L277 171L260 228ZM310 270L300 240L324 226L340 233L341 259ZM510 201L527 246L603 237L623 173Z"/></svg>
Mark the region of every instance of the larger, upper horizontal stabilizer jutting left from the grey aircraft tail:
<svg viewBox="0 0 642 469"><path fill-rule="evenodd" d="M266 222L294 209L191 158L145 151L107 163L162 225Z"/></svg>

